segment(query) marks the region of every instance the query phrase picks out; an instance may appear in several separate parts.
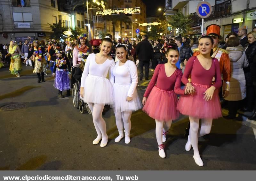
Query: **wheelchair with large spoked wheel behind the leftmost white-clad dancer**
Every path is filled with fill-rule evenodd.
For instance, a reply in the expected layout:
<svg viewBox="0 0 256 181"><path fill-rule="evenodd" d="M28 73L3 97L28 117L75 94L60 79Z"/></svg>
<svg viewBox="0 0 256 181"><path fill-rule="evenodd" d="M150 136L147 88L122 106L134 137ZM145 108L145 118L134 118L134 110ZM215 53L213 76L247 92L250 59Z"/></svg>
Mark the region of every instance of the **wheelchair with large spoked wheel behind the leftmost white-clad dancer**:
<svg viewBox="0 0 256 181"><path fill-rule="evenodd" d="M75 79L75 82L72 85L72 99L74 107L76 109L79 109L80 113L83 114L87 110L89 114L92 114L92 111L89 108L88 104L80 99L80 82L77 79Z"/></svg>

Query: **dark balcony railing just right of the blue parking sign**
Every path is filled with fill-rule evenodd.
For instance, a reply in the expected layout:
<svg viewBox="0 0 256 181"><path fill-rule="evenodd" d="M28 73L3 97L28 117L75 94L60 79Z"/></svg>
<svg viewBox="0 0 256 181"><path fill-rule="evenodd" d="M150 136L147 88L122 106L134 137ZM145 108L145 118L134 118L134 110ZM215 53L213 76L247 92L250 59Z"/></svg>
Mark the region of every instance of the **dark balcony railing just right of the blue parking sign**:
<svg viewBox="0 0 256 181"><path fill-rule="evenodd" d="M206 19L219 18L231 13L231 0L212 6L212 13Z"/></svg>

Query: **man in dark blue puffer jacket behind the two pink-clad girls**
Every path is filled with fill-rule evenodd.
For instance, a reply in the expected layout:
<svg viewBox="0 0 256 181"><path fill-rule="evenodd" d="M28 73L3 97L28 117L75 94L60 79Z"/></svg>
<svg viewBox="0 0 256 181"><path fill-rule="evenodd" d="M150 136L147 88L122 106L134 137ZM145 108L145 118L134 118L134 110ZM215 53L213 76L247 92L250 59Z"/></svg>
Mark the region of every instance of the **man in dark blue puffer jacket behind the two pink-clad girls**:
<svg viewBox="0 0 256 181"><path fill-rule="evenodd" d="M174 38L174 41L177 44L178 50L180 52L180 64L182 67L184 67L185 59L188 61L188 59L191 57L189 48L184 46L184 44L182 43L182 38L180 36L176 36ZM178 68L180 68L180 67L178 67Z"/></svg>

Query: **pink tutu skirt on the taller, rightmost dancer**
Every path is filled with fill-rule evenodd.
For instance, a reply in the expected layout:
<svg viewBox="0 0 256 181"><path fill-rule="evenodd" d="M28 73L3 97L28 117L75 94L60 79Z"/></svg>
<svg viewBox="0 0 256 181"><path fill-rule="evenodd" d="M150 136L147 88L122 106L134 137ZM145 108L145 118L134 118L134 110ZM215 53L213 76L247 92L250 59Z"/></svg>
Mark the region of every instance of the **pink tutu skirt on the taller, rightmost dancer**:
<svg viewBox="0 0 256 181"><path fill-rule="evenodd" d="M212 100L204 100L204 92L211 86L191 83L196 93L188 96L180 96L177 110L183 115L196 118L212 118L222 117L220 97L218 90L214 91Z"/></svg>

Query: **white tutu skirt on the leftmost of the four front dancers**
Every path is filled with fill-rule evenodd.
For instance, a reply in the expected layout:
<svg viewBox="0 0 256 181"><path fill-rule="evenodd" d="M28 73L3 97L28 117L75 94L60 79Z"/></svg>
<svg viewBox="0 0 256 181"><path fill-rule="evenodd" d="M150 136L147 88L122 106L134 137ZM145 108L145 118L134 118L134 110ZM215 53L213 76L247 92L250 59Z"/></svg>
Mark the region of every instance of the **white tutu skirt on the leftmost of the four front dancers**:
<svg viewBox="0 0 256 181"><path fill-rule="evenodd" d="M84 98L86 103L108 104L113 102L113 88L110 81L106 78L88 75L84 84Z"/></svg>

